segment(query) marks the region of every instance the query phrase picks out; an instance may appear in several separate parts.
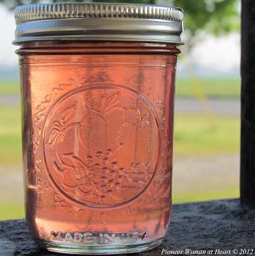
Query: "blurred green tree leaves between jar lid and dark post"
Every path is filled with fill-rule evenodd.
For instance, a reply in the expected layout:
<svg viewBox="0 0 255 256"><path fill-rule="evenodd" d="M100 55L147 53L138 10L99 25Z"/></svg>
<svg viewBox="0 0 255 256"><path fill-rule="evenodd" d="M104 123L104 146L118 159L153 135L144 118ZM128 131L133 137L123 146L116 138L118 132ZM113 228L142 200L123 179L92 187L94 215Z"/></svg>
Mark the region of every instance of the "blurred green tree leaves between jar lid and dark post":
<svg viewBox="0 0 255 256"><path fill-rule="evenodd" d="M186 48L201 40L202 31L220 36L239 30L237 0L174 0L185 11Z"/></svg>

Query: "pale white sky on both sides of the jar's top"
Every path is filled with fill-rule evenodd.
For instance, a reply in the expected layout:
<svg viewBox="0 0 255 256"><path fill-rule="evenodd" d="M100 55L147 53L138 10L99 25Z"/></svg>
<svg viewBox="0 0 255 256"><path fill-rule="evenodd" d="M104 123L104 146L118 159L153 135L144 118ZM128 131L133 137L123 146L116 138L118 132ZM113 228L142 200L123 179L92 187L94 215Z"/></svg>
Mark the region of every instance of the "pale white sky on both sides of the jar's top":
<svg viewBox="0 0 255 256"><path fill-rule="evenodd" d="M17 77L17 47L12 45L15 33L13 12L0 5L0 80ZM192 52L186 56L189 67L197 76L239 77L240 38L239 33L224 37L204 35ZM188 76L186 61L180 59L178 71L181 76ZM16 71L15 71L16 70Z"/></svg>

